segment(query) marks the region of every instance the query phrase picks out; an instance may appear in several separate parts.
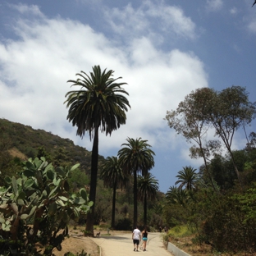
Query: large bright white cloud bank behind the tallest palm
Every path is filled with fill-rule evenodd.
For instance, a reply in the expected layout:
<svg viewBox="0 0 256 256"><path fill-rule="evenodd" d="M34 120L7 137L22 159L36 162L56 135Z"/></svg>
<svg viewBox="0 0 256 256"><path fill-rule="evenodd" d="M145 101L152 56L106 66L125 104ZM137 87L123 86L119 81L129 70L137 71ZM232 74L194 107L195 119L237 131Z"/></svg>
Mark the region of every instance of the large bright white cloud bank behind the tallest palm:
<svg viewBox="0 0 256 256"><path fill-rule="evenodd" d="M150 7L147 10L142 7L136 15L148 16L153 11ZM182 15L177 17L176 23L181 22ZM66 121L64 96L75 89L66 81L75 80L75 73L100 65L128 83L124 88L130 94L131 110L126 126L113 131L111 138L100 136L103 153L120 149L128 136L148 139L149 144L162 149L174 147L174 133L163 121L167 110L176 108L193 89L208 85L198 57L178 49L164 53L147 34L131 37L128 45L117 48L89 25L61 18L50 20L40 13L38 21L21 17L13 26L19 40L0 43L0 91L5 95L0 102L1 117L70 138L89 150L89 137L86 135L81 143L75 128ZM147 22L139 26L150 30Z"/></svg>

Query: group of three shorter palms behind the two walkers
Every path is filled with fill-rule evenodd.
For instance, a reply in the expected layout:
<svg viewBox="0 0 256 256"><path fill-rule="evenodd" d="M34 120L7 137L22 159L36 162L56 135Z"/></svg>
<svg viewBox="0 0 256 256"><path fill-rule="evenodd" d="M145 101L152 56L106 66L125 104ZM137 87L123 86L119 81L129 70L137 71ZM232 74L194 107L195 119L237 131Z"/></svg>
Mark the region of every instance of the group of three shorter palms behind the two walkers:
<svg viewBox="0 0 256 256"><path fill-rule="evenodd" d="M112 223L115 226L115 205L117 185L126 186L129 177L133 176L133 194L134 194L134 222L137 226L138 208L137 201L144 202L144 225L147 225L147 200L155 199L157 195L158 181L153 177L149 170L153 167L153 151L149 149L147 140L126 139L127 143L118 152L118 157L107 158L103 166L102 177L104 184L112 187ZM138 176L141 172L141 176Z"/></svg>

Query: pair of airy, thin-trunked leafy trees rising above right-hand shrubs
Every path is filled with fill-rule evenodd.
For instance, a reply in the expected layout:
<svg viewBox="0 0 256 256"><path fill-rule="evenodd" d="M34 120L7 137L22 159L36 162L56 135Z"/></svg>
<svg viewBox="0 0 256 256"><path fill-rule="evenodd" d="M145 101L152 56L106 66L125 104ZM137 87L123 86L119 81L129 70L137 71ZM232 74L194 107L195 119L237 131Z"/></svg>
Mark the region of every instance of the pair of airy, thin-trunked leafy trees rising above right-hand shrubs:
<svg viewBox="0 0 256 256"><path fill-rule="evenodd" d="M189 141L196 145L190 148L192 158L203 157L205 171L213 185L213 179L208 169L211 153L213 155L220 147L218 141L206 141L208 129L213 127L215 135L222 139L240 181L240 173L231 150L235 130L240 126L245 128L255 117L256 103L249 102L245 88L232 86L217 92L214 89L197 89L185 97L176 111L167 112L168 125L174 128ZM203 143L204 140L204 143ZM241 181L240 181L240 185Z"/></svg>

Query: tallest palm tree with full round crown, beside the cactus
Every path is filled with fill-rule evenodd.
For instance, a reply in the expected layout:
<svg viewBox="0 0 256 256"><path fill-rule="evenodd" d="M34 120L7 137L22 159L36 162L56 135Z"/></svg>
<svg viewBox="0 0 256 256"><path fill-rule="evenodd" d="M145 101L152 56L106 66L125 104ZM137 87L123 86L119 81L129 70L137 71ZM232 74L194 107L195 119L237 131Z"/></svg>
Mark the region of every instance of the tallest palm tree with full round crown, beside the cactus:
<svg viewBox="0 0 256 256"><path fill-rule="evenodd" d="M89 139L94 138L89 200L95 203L96 185L98 173L98 130L111 135L112 130L117 130L121 125L126 124L126 111L130 107L129 101L123 95L129 95L121 85L126 83L117 83L113 79L112 70L102 72L100 66L94 66L93 72L87 75L81 71L77 80L68 80L73 83L71 86L80 86L79 90L69 91L66 94L66 107L69 107L66 119L77 127L76 135L81 138L85 132L89 132ZM86 221L86 231L94 234L94 208L88 213Z"/></svg>

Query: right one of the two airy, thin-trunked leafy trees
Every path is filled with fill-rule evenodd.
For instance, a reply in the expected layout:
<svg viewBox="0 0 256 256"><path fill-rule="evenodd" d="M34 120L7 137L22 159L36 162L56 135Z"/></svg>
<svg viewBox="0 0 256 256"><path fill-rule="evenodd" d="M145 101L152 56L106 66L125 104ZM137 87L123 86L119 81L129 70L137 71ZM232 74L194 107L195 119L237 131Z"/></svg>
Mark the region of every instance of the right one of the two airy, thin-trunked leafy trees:
<svg viewBox="0 0 256 256"><path fill-rule="evenodd" d="M235 130L240 126L247 126L255 118L256 103L249 102L249 94L244 87L231 86L223 89L220 93L213 94L208 102L208 121L215 129L215 135L222 139L231 161L235 168L235 173L240 181L240 173L235 163L234 153L231 144L235 135ZM240 181L240 185L242 185Z"/></svg>

